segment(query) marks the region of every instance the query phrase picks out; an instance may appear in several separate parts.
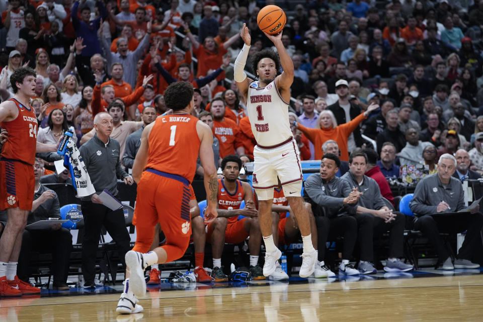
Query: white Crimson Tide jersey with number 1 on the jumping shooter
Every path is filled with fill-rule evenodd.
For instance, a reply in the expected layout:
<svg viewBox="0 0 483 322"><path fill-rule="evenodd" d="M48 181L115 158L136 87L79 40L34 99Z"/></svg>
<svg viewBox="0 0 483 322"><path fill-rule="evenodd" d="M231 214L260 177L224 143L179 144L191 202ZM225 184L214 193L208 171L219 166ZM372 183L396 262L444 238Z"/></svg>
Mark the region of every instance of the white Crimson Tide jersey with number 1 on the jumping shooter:
<svg viewBox="0 0 483 322"><path fill-rule="evenodd" d="M250 83L247 111L258 145L277 145L292 136L288 103L280 96L275 81L264 88L260 88L258 81Z"/></svg>

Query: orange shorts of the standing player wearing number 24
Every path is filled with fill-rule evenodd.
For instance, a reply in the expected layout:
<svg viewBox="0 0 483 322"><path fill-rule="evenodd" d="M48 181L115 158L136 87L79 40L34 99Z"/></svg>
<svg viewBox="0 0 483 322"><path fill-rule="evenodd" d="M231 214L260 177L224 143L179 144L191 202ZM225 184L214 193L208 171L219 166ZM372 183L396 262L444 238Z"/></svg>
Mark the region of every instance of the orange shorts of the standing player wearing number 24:
<svg viewBox="0 0 483 322"><path fill-rule="evenodd" d="M32 210L35 175L32 165L0 160L0 210L19 207Z"/></svg>

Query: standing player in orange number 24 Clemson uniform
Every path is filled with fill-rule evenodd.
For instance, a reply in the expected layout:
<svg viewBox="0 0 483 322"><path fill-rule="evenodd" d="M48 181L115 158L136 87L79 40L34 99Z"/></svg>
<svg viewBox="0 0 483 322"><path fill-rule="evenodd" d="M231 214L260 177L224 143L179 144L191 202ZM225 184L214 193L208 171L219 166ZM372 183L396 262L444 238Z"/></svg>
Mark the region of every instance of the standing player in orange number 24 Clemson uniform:
<svg viewBox="0 0 483 322"><path fill-rule="evenodd" d="M8 218L0 239L0 296L39 291L17 277L22 233L34 198L35 152L57 149L56 145L37 142L37 118L29 106L36 76L32 68L17 68L10 76L15 96L0 104L0 127L8 132L0 154L0 210L7 210Z"/></svg>

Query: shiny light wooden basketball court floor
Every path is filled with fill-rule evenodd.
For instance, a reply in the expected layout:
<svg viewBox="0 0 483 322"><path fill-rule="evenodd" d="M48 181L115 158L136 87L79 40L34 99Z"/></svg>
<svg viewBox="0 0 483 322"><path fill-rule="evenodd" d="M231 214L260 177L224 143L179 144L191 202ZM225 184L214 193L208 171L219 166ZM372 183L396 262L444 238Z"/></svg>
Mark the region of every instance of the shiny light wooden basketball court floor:
<svg viewBox="0 0 483 322"><path fill-rule="evenodd" d="M474 270L473 270L474 271ZM165 283L148 287L142 313L118 315L120 286L0 299L0 322L17 321L322 321L483 318L483 272Z"/></svg>

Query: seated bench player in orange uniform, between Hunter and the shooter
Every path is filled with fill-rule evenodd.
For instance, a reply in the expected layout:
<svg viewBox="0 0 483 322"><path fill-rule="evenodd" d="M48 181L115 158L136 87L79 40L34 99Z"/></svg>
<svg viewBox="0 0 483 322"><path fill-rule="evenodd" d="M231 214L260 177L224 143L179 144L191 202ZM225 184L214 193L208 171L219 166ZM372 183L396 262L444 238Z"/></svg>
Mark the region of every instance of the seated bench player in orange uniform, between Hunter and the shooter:
<svg viewBox="0 0 483 322"><path fill-rule="evenodd" d="M224 179L218 180L218 218L208 224L206 238L213 251L213 271L211 277L216 282L227 281L228 276L221 267L221 253L225 241L239 244L250 236L250 272L255 280L264 280L262 268L258 265L262 233L258 222L258 211L253 201L252 187L238 180L241 160L238 156L227 155L221 160ZM245 208L240 209L245 200ZM246 218L238 220L238 215Z"/></svg>

